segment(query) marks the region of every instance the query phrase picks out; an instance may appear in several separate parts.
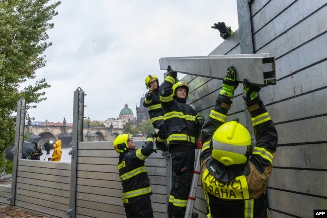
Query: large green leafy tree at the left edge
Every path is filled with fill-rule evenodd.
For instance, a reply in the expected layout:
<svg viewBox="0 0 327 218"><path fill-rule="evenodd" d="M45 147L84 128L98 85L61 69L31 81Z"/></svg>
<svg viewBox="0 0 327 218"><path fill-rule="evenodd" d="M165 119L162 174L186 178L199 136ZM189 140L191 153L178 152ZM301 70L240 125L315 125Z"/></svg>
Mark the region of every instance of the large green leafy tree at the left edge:
<svg viewBox="0 0 327 218"><path fill-rule="evenodd" d="M0 166L4 163L5 149L15 139L16 115L13 114L17 101L24 98L27 111L36 108L46 100L43 90L50 87L45 79L34 85L23 85L36 78L36 70L45 66L43 53L52 45L46 42L49 39L46 31L53 28L49 21L58 14L55 8L61 2L48 2L0 1Z"/></svg>

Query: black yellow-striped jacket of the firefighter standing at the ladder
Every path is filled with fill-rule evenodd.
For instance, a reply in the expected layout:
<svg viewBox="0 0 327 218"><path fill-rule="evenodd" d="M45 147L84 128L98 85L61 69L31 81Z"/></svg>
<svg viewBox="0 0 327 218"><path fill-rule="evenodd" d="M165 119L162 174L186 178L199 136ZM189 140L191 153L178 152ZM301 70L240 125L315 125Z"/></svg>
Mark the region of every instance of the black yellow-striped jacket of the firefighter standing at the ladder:
<svg viewBox="0 0 327 218"><path fill-rule="evenodd" d="M169 72L160 86L166 142L168 146L184 144L195 148L198 131L195 127L197 112L186 104L186 99L179 99L173 95L172 87L175 84L175 78L176 76L172 76Z"/></svg>

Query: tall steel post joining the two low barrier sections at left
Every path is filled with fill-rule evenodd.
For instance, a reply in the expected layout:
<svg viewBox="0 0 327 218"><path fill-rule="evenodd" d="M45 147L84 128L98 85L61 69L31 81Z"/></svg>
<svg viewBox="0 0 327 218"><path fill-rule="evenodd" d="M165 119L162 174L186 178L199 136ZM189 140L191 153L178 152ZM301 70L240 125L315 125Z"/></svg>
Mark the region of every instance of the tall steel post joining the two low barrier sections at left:
<svg viewBox="0 0 327 218"><path fill-rule="evenodd" d="M77 185L77 154L78 143L83 141L83 118L84 118L84 91L77 88L74 92L73 109L73 130L71 142L71 169L70 169L70 208L66 212L69 218L74 218L76 214L76 185Z"/></svg>

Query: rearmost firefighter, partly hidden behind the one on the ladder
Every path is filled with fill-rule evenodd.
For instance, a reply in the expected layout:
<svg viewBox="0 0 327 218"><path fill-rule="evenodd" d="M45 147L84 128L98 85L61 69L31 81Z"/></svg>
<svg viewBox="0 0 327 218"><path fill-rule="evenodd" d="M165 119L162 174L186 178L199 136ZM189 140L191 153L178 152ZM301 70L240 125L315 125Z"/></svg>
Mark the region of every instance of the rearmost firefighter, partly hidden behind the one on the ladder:
<svg viewBox="0 0 327 218"><path fill-rule="evenodd" d="M149 91L145 94L143 106L149 108L151 123L155 129L158 129L158 137L155 139L155 145L161 151L166 151L165 144L165 125L163 124L163 111L160 103L159 80L155 75L148 75L145 78L146 88Z"/></svg>

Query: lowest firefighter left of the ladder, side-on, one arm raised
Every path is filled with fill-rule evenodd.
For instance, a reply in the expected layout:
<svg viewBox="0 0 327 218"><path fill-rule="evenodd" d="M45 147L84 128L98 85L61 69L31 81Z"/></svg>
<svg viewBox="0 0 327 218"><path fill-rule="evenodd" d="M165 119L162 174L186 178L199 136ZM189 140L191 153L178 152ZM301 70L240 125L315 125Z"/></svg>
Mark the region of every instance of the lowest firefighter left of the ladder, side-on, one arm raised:
<svg viewBox="0 0 327 218"><path fill-rule="evenodd" d="M155 134L147 135L142 148L135 150L132 135L122 133L114 140L114 149L119 153L118 170L122 181L122 200L127 218L153 218L150 195L152 189L145 169L145 159L153 152Z"/></svg>

